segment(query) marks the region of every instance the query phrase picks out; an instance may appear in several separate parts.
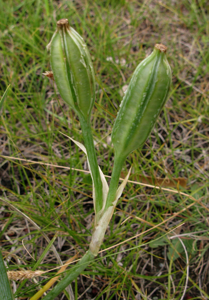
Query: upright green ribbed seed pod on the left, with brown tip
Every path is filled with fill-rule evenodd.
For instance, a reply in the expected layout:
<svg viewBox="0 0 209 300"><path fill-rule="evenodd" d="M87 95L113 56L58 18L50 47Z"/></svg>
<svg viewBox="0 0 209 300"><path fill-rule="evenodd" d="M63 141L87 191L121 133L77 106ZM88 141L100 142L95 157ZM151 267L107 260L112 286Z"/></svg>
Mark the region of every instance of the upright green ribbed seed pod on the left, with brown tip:
<svg viewBox="0 0 209 300"><path fill-rule="evenodd" d="M95 101L95 76L82 37L67 19L61 19L47 49L50 49L52 72L62 99L88 119Z"/></svg>

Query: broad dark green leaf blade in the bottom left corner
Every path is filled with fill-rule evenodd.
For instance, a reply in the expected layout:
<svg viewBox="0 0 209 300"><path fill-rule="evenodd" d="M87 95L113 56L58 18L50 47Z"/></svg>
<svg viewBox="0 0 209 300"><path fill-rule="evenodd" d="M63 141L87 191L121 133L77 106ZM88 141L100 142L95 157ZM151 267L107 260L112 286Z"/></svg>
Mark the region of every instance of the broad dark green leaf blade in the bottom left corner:
<svg viewBox="0 0 209 300"><path fill-rule="evenodd" d="M7 88L8 89L8 88ZM5 94L5 93L4 93ZM4 265L4 260L0 250L0 299L13 300L14 295L7 277L7 271Z"/></svg>

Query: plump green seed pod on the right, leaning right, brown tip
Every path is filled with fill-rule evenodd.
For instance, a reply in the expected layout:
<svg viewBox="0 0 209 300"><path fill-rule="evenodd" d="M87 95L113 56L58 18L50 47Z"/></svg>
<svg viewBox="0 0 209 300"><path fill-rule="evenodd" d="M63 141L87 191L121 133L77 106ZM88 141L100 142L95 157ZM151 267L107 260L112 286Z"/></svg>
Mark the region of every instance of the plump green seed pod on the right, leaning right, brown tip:
<svg viewBox="0 0 209 300"><path fill-rule="evenodd" d="M145 143L166 103L171 84L166 49L156 44L133 73L112 130L117 157L125 159Z"/></svg>

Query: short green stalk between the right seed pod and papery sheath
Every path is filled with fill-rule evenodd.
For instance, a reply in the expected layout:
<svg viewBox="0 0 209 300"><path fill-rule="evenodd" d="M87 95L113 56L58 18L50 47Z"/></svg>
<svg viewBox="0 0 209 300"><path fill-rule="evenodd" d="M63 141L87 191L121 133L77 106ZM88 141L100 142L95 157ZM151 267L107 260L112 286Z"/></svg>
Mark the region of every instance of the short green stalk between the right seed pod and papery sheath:
<svg viewBox="0 0 209 300"><path fill-rule="evenodd" d="M109 192L107 195L107 200L106 200L106 205L105 205L105 211L115 200L115 194L118 189L118 183L119 183L119 179L120 179L120 175L121 175L121 170L122 170L125 160L126 160L126 156L121 157L121 156L118 156L117 153L115 153L114 165L113 165L113 169L112 169L112 176L111 176L111 180L110 180Z"/></svg>

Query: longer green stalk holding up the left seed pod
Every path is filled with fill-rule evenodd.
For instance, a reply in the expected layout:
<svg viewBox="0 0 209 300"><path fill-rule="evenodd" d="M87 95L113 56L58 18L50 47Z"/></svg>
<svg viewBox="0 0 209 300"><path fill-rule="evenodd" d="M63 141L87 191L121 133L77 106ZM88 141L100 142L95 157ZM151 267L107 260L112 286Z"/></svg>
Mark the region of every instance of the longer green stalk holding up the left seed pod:
<svg viewBox="0 0 209 300"><path fill-rule="evenodd" d="M85 148L88 155L88 161L91 167L91 173L94 181L95 198L96 198L95 208L96 208L96 213L98 213L102 209L102 204L103 204L102 181L100 178L97 155L96 155L94 140L91 131L90 118L88 118L88 120L85 120L83 116L79 116L79 121L80 121L81 130L83 134Z"/></svg>

